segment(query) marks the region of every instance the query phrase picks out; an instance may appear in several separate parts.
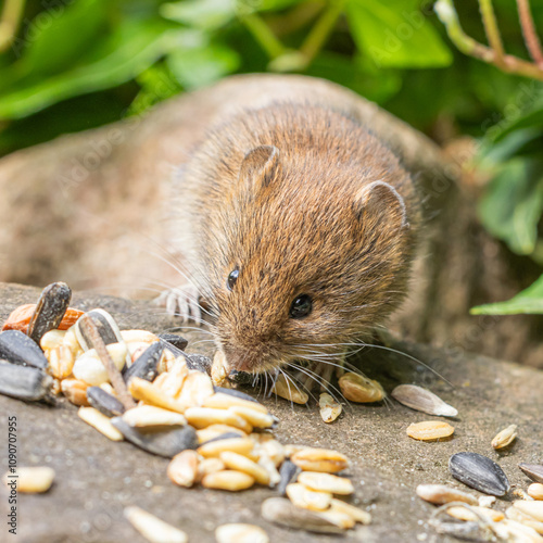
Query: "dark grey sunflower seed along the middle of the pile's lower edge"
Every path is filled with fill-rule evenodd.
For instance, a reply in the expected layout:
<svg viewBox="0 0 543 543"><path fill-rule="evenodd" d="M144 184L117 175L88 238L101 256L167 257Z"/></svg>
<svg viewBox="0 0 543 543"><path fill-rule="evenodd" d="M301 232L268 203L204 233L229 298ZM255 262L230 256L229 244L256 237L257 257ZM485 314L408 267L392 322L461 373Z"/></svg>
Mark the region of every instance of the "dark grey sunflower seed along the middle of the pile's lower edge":
<svg viewBox="0 0 543 543"><path fill-rule="evenodd" d="M112 418L111 422L127 441L157 456L172 458L181 451L199 446L197 431L191 426L143 432L128 426L122 417Z"/></svg>

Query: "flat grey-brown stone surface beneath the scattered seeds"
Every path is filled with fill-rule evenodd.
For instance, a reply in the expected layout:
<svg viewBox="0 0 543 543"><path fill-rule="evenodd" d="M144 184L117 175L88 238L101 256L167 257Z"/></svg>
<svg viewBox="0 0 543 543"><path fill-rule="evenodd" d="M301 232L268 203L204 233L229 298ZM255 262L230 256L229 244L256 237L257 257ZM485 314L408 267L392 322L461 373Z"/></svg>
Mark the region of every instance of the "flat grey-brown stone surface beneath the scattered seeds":
<svg viewBox="0 0 543 543"><path fill-rule="evenodd" d="M5 318L20 304L34 302L38 294L39 289L0 285L0 318ZM72 305L83 310L103 307L122 329L137 327L162 332L177 325L143 302L76 293ZM188 330L182 333L189 340L187 351L192 352L190 345L198 333ZM372 522L357 528L345 541L404 543L416 542L417 536L427 534L424 541L453 543L457 540L438 535L428 526L433 506L416 497L416 487L446 483L466 490L449 473L447 462L454 453L471 451L493 458L512 485L526 489L529 480L517 465L539 464L543 459L543 372L472 355L456 356L452 364L447 355L437 349L407 343L393 346L420 358L455 388L451 389L422 366L384 350L367 350L359 361L361 367L388 392L396 384L413 382L457 407L459 415L452 421L456 431L451 441L411 440L405 428L429 416L396 403L348 405L338 420L326 425L316 403L307 408L292 407L282 400L261 400L280 419L276 434L283 443L333 447L352 459L350 475L355 496L361 506L370 507ZM55 482L47 494L18 496L17 538L10 536L9 541L140 543L143 540L123 518L122 512L127 505L138 505L181 528L189 534L190 542L213 542L215 528L226 522L260 525L272 541L338 541L337 536L294 532L265 521L260 516L261 503L277 495L269 489L228 494L175 487L166 475L167 459L147 454L129 443L109 441L85 425L67 402L61 401L51 407L0 396L4 435L8 416L17 417L18 465L47 465L56 471ZM517 442L497 453L491 440L509 424L518 425ZM2 442L5 441L2 437ZM2 449L0 469L4 471L5 445ZM500 501L501 509L509 505L506 500ZM3 487L0 502L7 504ZM1 510L5 512L7 506L2 505ZM8 541L7 530L2 521L0 541Z"/></svg>

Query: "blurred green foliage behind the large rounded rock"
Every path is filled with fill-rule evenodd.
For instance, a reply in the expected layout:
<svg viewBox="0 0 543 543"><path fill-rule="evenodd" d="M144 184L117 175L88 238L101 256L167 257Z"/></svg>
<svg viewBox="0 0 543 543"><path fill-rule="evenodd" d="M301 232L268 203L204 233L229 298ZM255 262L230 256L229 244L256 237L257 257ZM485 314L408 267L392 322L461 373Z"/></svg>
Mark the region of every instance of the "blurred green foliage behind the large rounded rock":
<svg viewBox="0 0 543 543"><path fill-rule="evenodd" d="M456 3L466 34L485 43L477 2ZM506 50L528 59L515 0L493 3ZM479 138L478 166L491 179L482 223L543 265L541 83L458 52L432 1L4 0L3 8L0 155L141 114L228 74L325 77L440 142ZM543 29L543 2L532 2L532 13ZM541 288L520 302L538 295Z"/></svg>

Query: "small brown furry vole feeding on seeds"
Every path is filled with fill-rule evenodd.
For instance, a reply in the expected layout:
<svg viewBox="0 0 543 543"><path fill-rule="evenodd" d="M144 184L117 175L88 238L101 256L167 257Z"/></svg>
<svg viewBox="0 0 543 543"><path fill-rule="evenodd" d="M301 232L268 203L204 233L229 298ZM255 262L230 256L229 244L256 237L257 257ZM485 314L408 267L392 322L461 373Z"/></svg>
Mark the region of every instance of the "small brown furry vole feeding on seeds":
<svg viewBox="0 0 543 543"><path fill-rule="evenodd" d="M182 167L173 239L231 369L328 359L406 290L420 210L392 152L348 114L300 101L239 111ZM195 287L195 289L194 289Z"/></svg>

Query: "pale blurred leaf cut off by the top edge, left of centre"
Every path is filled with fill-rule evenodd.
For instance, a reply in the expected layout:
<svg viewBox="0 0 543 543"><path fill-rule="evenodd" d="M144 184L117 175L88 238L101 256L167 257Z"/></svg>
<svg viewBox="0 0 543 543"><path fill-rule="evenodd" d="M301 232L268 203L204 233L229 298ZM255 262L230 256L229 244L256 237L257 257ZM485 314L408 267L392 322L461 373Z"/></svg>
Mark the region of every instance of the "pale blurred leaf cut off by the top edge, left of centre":
<svg viewBox="0 0 543 543"><path fill-rule="evenodd" d="M235 0L188 0L161 5L161 15L203 30L215 30L236 16Z"/></svg>

